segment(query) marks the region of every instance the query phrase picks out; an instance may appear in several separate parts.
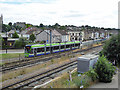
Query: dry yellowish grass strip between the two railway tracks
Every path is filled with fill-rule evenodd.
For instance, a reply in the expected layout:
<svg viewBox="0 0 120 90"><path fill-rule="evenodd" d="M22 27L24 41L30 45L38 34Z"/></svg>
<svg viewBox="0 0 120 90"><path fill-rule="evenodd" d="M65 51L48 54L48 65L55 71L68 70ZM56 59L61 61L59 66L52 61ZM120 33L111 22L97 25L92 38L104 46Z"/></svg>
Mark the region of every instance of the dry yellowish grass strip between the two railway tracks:
<svg viewBox="0 0 120 90"><path fill-rule="evenodd" d="M62 56L59 59L52 59L44 64L40 64L40 65L35 65L32 67L27 67L27 68L23 68L23 69L18 69L15 71L11 71L8 73L5 73L2 75L2 81L8 80L8 79L12 79L12 78L16 78L17 76L23 75L23 74L28 74L34 71L37 71L41 68L44 68L44 70L50 69L48 66L52 65L52 64L64 64L66 62L69 62L69 58L70 56Z"/></svg>

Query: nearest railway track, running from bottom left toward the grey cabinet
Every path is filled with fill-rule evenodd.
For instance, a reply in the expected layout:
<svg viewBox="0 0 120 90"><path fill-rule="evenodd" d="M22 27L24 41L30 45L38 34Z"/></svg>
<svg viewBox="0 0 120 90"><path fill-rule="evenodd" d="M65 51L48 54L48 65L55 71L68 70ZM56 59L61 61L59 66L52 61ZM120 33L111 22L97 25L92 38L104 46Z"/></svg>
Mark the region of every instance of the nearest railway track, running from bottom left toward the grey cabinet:
<svg viewBox="0 0 120 90"><path fill-rule="evenodd" d="M69 63L66 63L64 65L61 65L61 66L55 67L53 69L47 70L47 71L45 71L43 73L39 73L39 74L37 74L35 76L26 78L24 80L18 81L16 83L11 84L11 85L4 86L2 88L2 90L7 90L7 89L10 89L10 88L11 89L20 89L20 88L22 88L24 86L28 86L31 83L34 83L36 81L40 81L40 80L42 80L42 79L44 79L46 77L50 77L51 75L56 74L56 73L58 73L60 71L63 71L63 70L65 70L65 69L67 69L67 68L69 68L71 66L74 66L74 65L77 65L77 60L73 60L73 61L71 61Z"/></svg>

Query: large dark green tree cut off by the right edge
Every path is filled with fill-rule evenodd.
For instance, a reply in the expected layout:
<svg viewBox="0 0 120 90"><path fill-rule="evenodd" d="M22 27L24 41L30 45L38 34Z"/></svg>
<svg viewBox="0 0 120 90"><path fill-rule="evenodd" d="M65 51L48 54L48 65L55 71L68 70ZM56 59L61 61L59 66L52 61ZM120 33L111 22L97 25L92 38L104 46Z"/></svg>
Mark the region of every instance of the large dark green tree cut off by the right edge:
<svg viewBox="0 0 120 90"><path fill-rule="evenodd" d="M116 65L120 65L120 33L106 41L100 55L104 55L109 61L115 61Z"/></svg>

